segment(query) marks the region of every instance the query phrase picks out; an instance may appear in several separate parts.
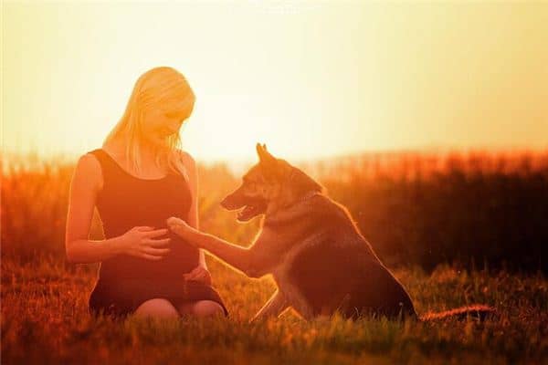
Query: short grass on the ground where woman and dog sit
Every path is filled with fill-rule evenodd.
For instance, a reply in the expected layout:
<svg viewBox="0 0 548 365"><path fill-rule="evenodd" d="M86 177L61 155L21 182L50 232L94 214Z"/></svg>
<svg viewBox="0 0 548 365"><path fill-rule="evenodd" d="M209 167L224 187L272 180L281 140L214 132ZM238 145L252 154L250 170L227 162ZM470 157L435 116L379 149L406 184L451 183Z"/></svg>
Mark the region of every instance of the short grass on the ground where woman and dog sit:
<svg viewBox="0 0 548 365"><path fill-rule="evenodd" d="M2 363L546 363L548 285L536 275L438 266L395 270L419 314L486 303L497 315L440 322L333 317L306 322L292 312L249 324L274 291L209 257L229 318L91 318L95 265L49 257L2 261Z"/></svg>

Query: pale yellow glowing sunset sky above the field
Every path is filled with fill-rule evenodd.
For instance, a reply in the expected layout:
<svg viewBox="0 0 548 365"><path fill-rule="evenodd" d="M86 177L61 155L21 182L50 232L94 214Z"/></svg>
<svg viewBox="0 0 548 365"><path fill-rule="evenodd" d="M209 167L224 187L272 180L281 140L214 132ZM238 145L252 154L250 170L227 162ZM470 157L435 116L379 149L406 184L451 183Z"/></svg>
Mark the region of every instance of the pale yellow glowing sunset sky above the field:
<svg viewBox="0 0 548 365"><path fill-rule="evenodd" d="M99 148L136 79L195 90L202 161L548 148L548 2L8 2L6 151Z"/></svg>

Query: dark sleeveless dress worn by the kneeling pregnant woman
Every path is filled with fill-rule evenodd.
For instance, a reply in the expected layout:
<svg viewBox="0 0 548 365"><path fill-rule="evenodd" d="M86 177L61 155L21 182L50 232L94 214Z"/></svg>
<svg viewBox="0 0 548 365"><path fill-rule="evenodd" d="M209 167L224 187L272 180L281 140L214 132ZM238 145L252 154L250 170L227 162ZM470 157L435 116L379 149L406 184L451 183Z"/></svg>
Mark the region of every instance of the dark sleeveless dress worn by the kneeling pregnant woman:
<svg viewBox="0 0 548 365"><path fill-rule="evenodd" d="M167 228L166 219L176 216L187 220L191 193L182 175L169 173L161 179L141 179L121 168L102 149L90 151L99 160L103 189L97 197L97 209L105 238L123 235L137 225ZM116 255L100 263L98 278L90 294L90 314L104 313L125 318L143 302L165 298L175 308L186 301L213 300L228 315L216 289L184 273L199 263L199 251L178 235L168 231L171 251L162 260L152 261L132 255Z"/></svg>

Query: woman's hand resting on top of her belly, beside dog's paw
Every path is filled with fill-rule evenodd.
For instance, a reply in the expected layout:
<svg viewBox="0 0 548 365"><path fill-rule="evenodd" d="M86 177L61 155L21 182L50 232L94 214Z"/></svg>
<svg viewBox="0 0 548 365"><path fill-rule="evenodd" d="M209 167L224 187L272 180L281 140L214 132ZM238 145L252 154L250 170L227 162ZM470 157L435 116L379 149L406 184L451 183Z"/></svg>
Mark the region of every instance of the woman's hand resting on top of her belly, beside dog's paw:
<svg viewBox="0 0 548 365"><path fill-rule="evenodd" d="M147 260L162 260L171 250L166 248L171 238L153 239L165 235L167 228L154 229L150 226L135 226L120 236L121 252L126 255L142 257Z"/></svg>

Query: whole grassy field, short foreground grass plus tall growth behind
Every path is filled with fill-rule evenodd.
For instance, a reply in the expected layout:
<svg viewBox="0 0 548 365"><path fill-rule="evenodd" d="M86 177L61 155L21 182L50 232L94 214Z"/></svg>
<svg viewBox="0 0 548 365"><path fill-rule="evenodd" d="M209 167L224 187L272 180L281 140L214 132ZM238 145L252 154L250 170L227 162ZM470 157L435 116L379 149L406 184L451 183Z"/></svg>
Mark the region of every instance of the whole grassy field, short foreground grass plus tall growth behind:
<svg viewBox="0 0 548 365"><path fill-rule="evenodd" d="M208 256L229 318L90 318L97 264L64 253L74 162L10 157L2 166L2 363L548 363L548 152L349 156L300 167L345 204L419 314L484 303L484 321L305 322L291 311L248 324L274 291ZM200 164L200 226L248 245L218 203L237 187ZM91 239L101 239L99 216ZM543 261L544 260L544 261Z"/></svg>

